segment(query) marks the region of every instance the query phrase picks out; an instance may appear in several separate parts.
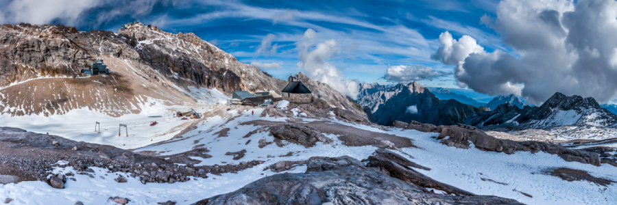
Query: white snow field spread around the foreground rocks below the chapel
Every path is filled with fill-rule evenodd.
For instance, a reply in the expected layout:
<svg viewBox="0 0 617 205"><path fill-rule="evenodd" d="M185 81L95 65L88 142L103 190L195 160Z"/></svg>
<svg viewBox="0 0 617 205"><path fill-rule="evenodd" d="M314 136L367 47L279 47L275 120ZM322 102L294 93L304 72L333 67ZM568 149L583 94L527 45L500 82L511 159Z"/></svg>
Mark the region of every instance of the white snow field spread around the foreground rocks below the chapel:
<svg viewBox="0 0 617 205"><path fill-rule="evenodd" d="M255 111L254 115L251 114L252 111ZM192 150L193 147L203 144L204 148L210 150L208 154L213 157L203 159L191 156L191 158L199 159L203 164L238 164L241 161L254 159L265 161L261 165L244 169L236 174L225 173L220 176L208 174L208 178L197 178L197 180L193 178L188 182L173 184L141 184L138 178L130 177L129 173L109 173L106 167L93 167L94 178L75 174L77 172L72 167L66 167L52 171L54 174L68 172L75 174L71 178L75 178L76 181L67 180L65 189L53 189L47 183L40 181L19 182L18 184L0 184L0 195L14 199L12 204L74 204L77 201L84 204L114 204L108 200L108 197L114 196L127 197L131 200L130 204L156 204L167 200L177 202L178 205L193 204L198 200L241 189L254 180L276 174L267 167L278 161L302 161L308 160L311 156L342 155L361 160L366 159L376 150L374 146L346 146L339 136L327 132L324 135L333 140L330 144L317 142L311 148L304 148L304 146L284 141L285 145L281 147L270 144L259 148L260 139L274 141L275 137L268 135L268 132L260 132L262 127L267 128L267 126L256 124L257 122L276 124L289 120L287 118L260 118L258 116L262 111L263 109L259 108L241 110L240 113L238 110L226 111L231 118L221 118L218 115L206 118L195 124L195 129L182 134L177 139L137 150L154 151L167 156ZM315 119L302 117L292 121L298 120L302 120L298 124L315 121ZM393 152L404 156L409 161L424 165L430 170L414 167L409 167L409 169L476 195L507 197L524 204L614 204L617 201L616 183L603 186L586 180L569 182L547 173L547 170L564 167L588 172L597 178L617 181L615 167L610 165L603 164L596 167L590 164L566 162L556 154L544 152L505 154L486 152L473 147L461 149L446 146L432 138L437 137L438 133L421 133L400 128L381 129L343 122L334 118L322 120L335 126L350 126L357 131L386 133L411 139L415 147L401 148ZM225 132L228 136L220 137L219 133L224 130L227 130ZM127 139L119 138L121 141ZM226 152L239 150L247 151L242 159L234 160L234 156L226 154ZM287 154L289 152L293 154ZM268 155L273 157L268 157ZM306 172L306 165L300 165L284 172L303 173ZM113 179L119 174L126 176L128 182L115 182ZM443 192L435 190L435 193Z"/></svg>

